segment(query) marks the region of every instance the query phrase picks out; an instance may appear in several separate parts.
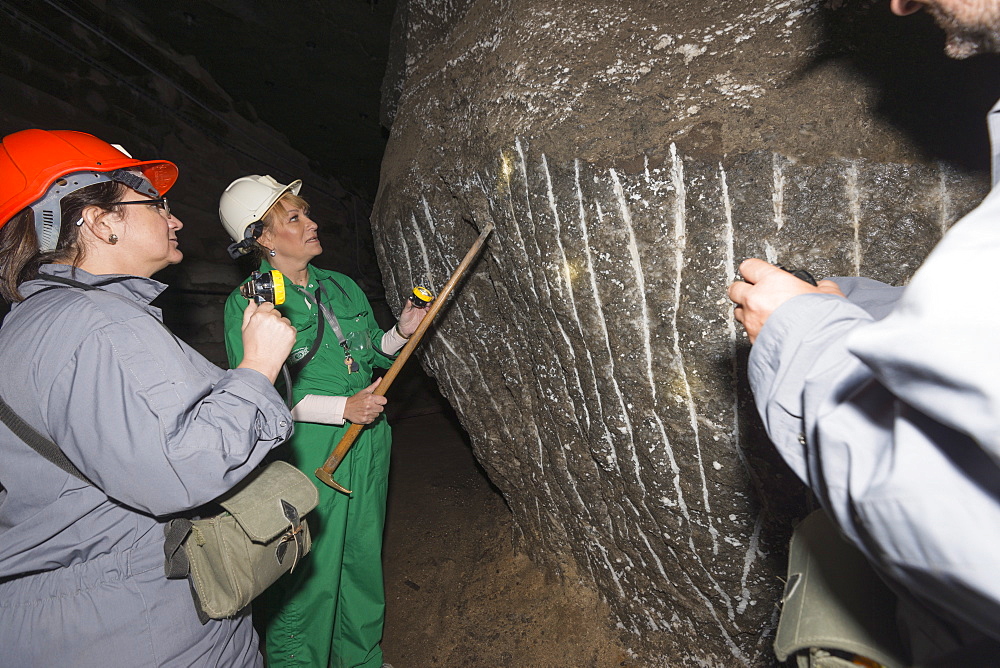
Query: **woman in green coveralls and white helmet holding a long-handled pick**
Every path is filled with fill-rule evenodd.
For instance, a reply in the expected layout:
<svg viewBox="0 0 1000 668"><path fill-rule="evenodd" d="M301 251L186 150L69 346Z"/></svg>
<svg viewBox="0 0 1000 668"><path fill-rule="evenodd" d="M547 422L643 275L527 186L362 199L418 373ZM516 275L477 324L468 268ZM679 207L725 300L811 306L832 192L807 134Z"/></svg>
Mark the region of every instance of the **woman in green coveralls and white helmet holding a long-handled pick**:
<svg viewBox="0 0 1000 668"><path fill-rule="evenodd" d="M254 618L269 668L379 668L391 436L381 415L386 400L372 394L380 380L371 382L372 370L391 365L426 311L407 300L399 322L384 333L353 280L312 266L322 247L308 205L298 196L301 187L301 181L283 185L270 176L246 176L230 184L219 202L223 225L236 242L230 254L259 255L260 271L284 275L285 303L278 310L297 330L288 358L295 433L275 452L313 477L350 423L368 426L336 471L337 482L352 493L314 480L320 501L309 514L312 552L254 602ZM230 364L243 356L246 305L238 289L226 301Z"/></svg>

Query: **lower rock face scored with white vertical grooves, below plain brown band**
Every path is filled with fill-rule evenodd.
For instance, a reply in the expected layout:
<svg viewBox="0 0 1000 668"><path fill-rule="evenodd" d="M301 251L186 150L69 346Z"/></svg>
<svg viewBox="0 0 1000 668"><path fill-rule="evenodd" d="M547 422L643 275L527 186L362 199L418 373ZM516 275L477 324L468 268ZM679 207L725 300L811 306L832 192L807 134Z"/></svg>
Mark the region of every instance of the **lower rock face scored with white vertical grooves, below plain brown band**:
<svg viewBox="0 0 1000 668"><path fill-rule="evenodd" d="M737 261L904 283L964 213L955 199L981 188L943 167L704 164L676 149L627 174L550 164L520 141L495 167L376 215L393 223L395 246L379 246L390 286L439 289L496 225L423 359L521 544L556 571L571 558L636 638L697 655L704 643L684 644L714 636L710 661L766 654L783 542L806 505L749 402L725 297ZM905 219L886 187L912 198Z"/></svg>

